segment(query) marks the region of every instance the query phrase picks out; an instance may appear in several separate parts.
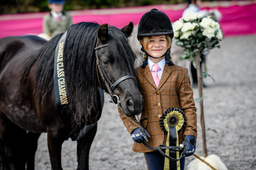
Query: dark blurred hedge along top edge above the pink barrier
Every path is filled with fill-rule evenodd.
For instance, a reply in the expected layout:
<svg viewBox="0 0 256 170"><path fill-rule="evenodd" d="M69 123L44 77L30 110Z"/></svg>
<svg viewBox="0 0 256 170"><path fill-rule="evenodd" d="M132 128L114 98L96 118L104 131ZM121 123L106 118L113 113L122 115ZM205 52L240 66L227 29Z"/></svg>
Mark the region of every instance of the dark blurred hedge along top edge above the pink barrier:
<svg viewBox="0 0 256 170"><path fill-rule="evenodd" d="M204 0L212 1L212 0ZM65 0L64 10L178 4L186 0ZM49 11L47 0L0 0L0 14Z"/></svg>

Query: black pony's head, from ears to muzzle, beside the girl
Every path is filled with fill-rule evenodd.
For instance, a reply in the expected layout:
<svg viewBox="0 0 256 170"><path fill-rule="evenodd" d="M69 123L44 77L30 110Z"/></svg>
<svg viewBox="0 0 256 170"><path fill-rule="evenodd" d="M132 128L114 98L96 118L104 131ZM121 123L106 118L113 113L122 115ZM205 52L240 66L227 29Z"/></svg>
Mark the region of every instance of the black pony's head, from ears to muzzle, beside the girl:
<svg viewBox="0 0 256 170"><path fill-rule="evenodd" d="M121 30L116 27L103 24L98 28L97 46L108 44L99 48L99 56L102 69L106 77L113 84L121 77L132 75L134 72L135 54L131 50L127 38L133 31L133 23L125 26ZM102 88L107 91L105 82L99 78ZM125 79L113 89L113 94L119 96L122 111L126 116L134 116L141 113L143 107L143 96L137 86L135 79Z"/></svg>

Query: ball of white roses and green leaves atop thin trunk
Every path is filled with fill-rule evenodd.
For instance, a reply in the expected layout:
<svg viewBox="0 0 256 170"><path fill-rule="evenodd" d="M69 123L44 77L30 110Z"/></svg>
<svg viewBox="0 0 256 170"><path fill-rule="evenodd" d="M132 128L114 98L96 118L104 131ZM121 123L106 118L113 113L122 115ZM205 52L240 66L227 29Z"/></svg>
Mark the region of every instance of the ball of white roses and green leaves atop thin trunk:
<svg viewBox="0 0 256 170"><path fill-rule="evenodd" d="M189 59L193 64L195 56L205 48L220 48L218 43L223 38L218 22L195 12L185 14L174 22L173 31L175 44L186 48L180 58Z"/></svg>

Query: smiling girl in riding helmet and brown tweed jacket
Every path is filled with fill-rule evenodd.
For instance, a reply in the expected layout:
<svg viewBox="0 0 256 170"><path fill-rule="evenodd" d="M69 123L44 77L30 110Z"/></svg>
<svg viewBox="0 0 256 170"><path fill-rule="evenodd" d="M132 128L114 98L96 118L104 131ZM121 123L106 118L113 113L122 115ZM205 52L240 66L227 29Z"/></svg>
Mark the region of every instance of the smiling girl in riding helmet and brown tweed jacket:
<svg viewBox="0 0 256 170"><path fill-rule="evenodd" d="M145 52L143 65L137 68L144 108L140 122L135 117L126 117L119 109L120 117L134 140L132 150L144 153L149 170L183 170L185 157L177 162L170 161L167 168L165 157L158 150L142 144L145 140L150 147L166 145L167 134L161 129L159 120L167 109L176 107L186 115L186 127L178 133L178 144L185 145L185 156L195 152L197 115L193 91L188 69L175 65L170 57L173 30L169 17L151 9L140 19L137 38Z"/></svg>

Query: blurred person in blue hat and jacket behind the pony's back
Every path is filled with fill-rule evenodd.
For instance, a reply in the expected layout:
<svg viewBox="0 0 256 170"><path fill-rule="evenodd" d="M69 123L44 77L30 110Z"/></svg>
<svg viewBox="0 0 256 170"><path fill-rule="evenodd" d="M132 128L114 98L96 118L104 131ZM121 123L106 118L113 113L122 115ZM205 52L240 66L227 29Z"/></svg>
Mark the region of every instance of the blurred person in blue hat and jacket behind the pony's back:
<svg viewBox="0 0 256 170"><path fill-rule="evenodd" d="M52 38L67 31L73 24L73 20L69 12L63 11L64 0L49 0L48 3L51 11L44 16L43 33Z"/></svg>

